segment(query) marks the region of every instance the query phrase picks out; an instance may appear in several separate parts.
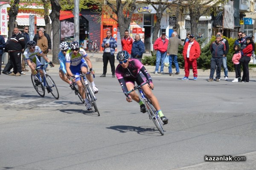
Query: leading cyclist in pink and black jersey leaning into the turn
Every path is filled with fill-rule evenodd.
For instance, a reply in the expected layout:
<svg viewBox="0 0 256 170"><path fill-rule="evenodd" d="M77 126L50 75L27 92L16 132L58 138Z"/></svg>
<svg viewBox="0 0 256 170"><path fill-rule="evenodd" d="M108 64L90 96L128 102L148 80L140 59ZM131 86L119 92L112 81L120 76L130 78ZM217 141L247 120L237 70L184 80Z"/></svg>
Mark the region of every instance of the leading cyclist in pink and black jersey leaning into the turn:
<svg viewBox="0 0 256 170"><path fill-rule="evenodd" d="M128 92L134 88L135 81L138 85L143 84L145 81L148 81L150 85L145 84L142 86L143 92L147 98L152 102L153 106L157 109L157 112L162 119L164 124L168 123L168 118L163 115L161 111L159 102L157 98L152 93L154 84L152 82L151 76L148 71L145 69L143 64L137 60L129 57L127 51L118 52L116 59L119 61L118 66L116 67L116 78L118 79L123 92ZM143 101L140 100L139 95L134 91L129 94L129 98L126 98L126 101L131 102L132 99L137 101L140 104L140 112L145 113L145 105Z"/></svg>

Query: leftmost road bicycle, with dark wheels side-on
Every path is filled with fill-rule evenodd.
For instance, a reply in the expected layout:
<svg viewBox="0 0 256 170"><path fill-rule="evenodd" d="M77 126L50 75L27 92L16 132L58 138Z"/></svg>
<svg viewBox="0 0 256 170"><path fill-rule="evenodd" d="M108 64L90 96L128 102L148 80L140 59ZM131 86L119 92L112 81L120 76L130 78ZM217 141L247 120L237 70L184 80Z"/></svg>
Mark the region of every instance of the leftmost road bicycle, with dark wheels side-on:
<svg viewBox="0 0 256 170"><path fill-rule="evenodd" d="M44 72L44 77L41 78L41 74L40 72L38 72L35 76L36 78L40 81L40 84L36 85L33 75L31 74L31 81L32 84L35 88L35 91L38 93L38 95L40 95L41 97L44 97L45 95L45 89L47 89L47 92L52 93L52 96L56 99L59 98L59 93L58 93L58 89L57 86L55 84L55 82L52 80L52 78L46 73L46 71L44 70L44 66L47 65L49 63L45 63L42 64L41 66L38 66L35 68L35 70L38 72L38 69L42 69L42 71Z"/></svg>

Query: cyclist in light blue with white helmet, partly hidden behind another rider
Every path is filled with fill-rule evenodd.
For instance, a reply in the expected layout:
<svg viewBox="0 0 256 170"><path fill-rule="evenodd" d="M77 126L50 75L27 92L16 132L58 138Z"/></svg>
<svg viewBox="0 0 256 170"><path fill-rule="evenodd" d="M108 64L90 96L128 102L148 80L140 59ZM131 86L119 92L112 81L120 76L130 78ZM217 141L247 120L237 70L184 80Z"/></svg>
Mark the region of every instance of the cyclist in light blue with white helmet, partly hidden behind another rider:
<svg viewBox="0 0 256 170"><path fill-rule="evenodd" d="M60 43L59 48L61 50L58 53L58 60L60 62L59 76L61 80L68 83L71 89L74 90L75 87L73 86L72 81L69 80L70 76L67 75L67 70L66 70L66 53L67 53L67 50L69 49L68 43L67 42Z"/></svg>

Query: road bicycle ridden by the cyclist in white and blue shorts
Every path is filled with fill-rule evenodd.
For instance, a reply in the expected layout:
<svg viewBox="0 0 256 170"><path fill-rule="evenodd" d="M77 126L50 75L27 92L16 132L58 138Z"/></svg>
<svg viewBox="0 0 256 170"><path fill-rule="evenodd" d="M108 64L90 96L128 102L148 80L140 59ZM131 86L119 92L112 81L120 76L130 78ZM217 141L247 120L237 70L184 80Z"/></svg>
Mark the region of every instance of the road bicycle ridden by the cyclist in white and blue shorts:
<svg viewBox="0 0 256 170"><path fill-rule="evenodd" d="M87 72L86 74L80 74L79 75L79 78L81 78L81 83L83 85L83 92L85 93L85 97L87 98L87 100L89 101L91 106L94 107L94 111L98 113L98 116L100 116L99 109L98 109L97 104L96 104L97 98L95 97L94 92L91 89L91 87L88 84L88 82L86 80L86 77L85 77L87 74L90 74L90 72ZM93 75L93 78L94 77L95 77L95 75Z"/></svg>

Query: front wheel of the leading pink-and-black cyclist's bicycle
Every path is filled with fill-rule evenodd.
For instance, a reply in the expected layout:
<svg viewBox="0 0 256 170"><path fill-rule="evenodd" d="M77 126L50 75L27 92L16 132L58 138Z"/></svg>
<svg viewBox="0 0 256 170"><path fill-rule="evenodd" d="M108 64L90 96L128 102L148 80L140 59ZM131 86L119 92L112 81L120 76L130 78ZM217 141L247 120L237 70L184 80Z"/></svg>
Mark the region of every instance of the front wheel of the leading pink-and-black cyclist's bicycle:
<svg viewBox="0 0 256 170"><path fill-rule="evenodd" d="M163 135L163 122L161 118L158 116L157 110L149 101L145 101L145 107L148 111L148 115L150 116L151 120L154 122L159 132Z"/></svg>

